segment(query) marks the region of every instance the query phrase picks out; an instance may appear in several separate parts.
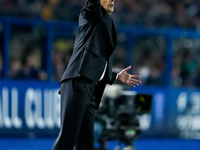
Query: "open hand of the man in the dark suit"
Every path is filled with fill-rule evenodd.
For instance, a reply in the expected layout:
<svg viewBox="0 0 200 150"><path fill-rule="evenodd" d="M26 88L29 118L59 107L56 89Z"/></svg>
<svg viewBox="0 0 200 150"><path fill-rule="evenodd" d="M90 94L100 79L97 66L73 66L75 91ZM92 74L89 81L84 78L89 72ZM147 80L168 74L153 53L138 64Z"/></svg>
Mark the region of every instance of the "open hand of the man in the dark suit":
<svg viewBox="0 0 200 150"><path fill-rule="evenodd" d="M139 75L131 75L129 73L127 73L128 70L131 69L131 66L123 69L117 77L117 80L120 81L121 83L125 83L129 86L135 87L136 85L138 86L141 81L138 80L140 78Z"/></svg>

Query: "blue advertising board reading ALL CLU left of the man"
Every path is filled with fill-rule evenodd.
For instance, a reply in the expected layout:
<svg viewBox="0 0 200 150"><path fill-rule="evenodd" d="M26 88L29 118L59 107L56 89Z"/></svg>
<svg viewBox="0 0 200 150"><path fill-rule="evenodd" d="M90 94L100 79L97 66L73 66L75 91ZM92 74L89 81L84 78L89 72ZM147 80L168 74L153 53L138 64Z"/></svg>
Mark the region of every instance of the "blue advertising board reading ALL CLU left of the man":
<svg viewBox="0 0 200 150"><path fill-rule="evenodd" d="M60 127L58 85L37 81L1 81L0 135L56 135Z"/></svg>

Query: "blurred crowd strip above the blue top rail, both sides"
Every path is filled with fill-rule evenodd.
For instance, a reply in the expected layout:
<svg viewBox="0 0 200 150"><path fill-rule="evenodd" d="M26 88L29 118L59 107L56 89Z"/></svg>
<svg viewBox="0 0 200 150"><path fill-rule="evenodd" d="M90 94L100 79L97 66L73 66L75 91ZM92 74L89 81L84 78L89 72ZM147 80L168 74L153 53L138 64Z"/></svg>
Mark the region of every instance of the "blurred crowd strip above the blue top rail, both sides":
<svg viewBox="0 0 200 150"><path fill-rule="evenodd" d="M85 0L0 0L0 15L77 21ZM72 13L73 12L73 13ZM116 23L200 28L200 0L117 0Z"/></svg>

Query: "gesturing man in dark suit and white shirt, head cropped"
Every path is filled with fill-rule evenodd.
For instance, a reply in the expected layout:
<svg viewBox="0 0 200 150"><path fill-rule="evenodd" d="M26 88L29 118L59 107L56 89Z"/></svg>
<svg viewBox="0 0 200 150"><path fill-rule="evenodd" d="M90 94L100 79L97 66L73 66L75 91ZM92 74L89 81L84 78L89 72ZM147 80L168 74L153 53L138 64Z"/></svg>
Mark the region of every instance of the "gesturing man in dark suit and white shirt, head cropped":
<svg viewBox="0 0 200 150"><path fill-rule="evenodd" d="M86 0L72 57L60 82L61 129L52 150L93 150L94 121L106 84L132 87L139 76L112 72L116 29L110 14L115 0Z"/></svg>

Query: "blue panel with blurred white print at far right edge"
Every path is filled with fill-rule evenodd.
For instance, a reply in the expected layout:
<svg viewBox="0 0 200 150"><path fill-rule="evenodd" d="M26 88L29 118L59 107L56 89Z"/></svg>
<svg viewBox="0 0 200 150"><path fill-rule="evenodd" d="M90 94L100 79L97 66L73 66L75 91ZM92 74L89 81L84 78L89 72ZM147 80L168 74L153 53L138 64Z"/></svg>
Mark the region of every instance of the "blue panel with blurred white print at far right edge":
<svg viewBox="0 0 200 150"><path fill-rule="evenodd" d="M200 139L200 90L169 88L166 101L168 134Z"/></svg>

